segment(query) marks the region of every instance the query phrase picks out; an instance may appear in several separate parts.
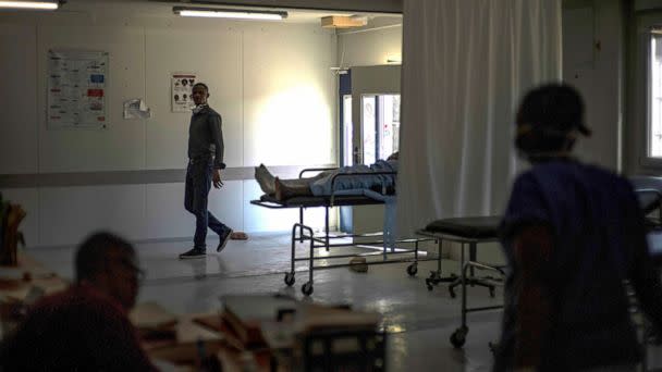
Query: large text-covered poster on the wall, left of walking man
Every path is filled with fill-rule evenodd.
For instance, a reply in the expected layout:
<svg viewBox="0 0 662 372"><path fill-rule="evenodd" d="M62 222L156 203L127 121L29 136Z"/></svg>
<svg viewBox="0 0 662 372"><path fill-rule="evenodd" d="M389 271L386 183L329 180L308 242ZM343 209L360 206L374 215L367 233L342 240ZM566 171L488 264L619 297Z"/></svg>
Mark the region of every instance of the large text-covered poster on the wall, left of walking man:
<svg viewBox="0 0 662 372"><path fill-rule="evenodd" d="M108 52L48 52L48 127L107 126Z"/></svg>

